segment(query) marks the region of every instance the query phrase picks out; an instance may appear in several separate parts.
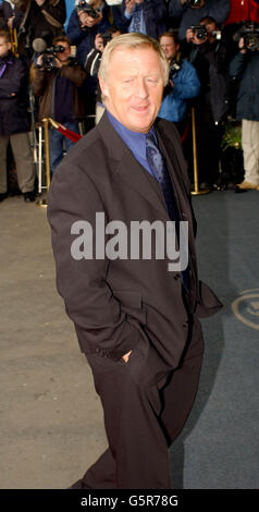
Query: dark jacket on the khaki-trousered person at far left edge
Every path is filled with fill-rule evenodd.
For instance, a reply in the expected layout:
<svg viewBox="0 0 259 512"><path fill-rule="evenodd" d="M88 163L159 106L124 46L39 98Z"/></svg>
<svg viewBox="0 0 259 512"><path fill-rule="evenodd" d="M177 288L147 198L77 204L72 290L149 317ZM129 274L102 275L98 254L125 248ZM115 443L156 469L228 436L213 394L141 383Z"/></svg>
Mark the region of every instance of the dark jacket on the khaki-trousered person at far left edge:
<svg viewBox="0 0 259 512"><path fill-rule="evenodd" d="M4 69L0 78L0 135L29 132L27 69L11 52L0 59L0 69Z"/></svg>

